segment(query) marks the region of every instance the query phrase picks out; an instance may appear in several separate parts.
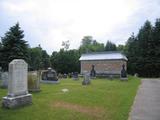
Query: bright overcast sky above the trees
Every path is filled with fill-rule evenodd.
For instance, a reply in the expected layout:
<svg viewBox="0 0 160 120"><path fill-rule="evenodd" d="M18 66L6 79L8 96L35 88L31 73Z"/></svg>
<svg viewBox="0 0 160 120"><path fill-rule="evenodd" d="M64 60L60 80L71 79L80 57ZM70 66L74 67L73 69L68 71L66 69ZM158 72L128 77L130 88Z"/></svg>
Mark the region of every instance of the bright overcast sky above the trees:
<svg viewBox="0 0 160 120"><path fill-rule="evenodd" d="M160 18L160 0L1 0L0 36L16 22L31 47L49 54L70 41L78 48L83 36L124 44L148 19Z"/></svg>

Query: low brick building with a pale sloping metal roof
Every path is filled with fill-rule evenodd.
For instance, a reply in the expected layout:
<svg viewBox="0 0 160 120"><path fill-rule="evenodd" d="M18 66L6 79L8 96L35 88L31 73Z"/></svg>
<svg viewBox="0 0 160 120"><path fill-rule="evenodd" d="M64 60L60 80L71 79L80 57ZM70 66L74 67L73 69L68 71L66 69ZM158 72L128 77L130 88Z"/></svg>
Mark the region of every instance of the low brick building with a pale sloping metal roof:
<svg viewBox="0 0 160 120"><path fill-rule="evenodd" d="M95 52L80 57L81 74L90 72L94 65L97 75L120 75L122 65L127 68L127 58L121 52Z"/></svg>

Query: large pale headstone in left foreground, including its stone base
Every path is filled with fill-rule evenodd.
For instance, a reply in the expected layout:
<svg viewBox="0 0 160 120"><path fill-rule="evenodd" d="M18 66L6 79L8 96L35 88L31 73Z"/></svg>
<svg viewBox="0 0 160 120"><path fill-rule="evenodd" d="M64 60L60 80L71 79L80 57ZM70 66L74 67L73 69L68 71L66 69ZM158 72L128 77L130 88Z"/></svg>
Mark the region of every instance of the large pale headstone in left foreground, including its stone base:
<svg viewBox="0 0 160 120"><path fill-rule="evenodd" d="M16 108L32 103L27 87L28 64L22 59L9 63L8 95L3 97L2 106Z"/></svg>

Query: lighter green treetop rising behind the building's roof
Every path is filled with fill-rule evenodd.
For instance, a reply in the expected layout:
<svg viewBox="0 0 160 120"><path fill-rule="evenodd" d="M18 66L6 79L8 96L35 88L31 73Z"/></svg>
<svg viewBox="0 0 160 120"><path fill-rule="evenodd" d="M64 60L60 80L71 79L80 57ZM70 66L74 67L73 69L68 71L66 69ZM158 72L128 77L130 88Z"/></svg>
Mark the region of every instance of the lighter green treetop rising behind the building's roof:
<svg viewBox="0 0 160 120"><path fill-rule="evenodd" d="M84 36L79 51L80 53L104 51L104 44L93 40L92 36Z"/></svg>

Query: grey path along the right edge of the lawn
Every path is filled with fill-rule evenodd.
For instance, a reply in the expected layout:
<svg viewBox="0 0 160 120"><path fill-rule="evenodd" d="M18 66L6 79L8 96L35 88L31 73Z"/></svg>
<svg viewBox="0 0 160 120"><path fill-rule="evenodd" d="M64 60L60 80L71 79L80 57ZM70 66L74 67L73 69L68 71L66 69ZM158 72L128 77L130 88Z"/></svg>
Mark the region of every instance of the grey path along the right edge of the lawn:
<svg viewBox="0 0 160 120"><path fill-rule="evenodd" d="M160 120L160 79L142 79L129 120Z"/></svg>

